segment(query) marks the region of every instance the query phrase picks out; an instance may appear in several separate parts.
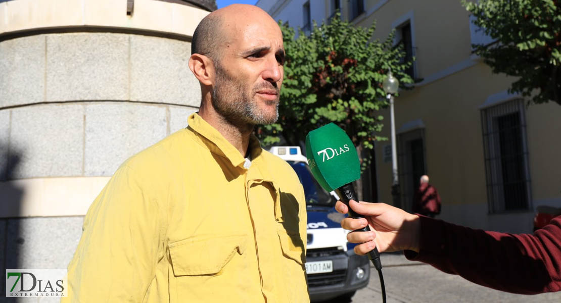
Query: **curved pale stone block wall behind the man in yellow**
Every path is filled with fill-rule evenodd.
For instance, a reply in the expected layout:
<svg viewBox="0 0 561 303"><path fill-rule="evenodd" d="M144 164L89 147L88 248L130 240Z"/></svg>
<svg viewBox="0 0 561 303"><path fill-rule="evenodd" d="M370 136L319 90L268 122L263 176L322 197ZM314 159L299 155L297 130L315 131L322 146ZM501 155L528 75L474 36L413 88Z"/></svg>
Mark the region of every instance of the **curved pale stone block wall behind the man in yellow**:
<svg viewBox="0 0 561 303"><path fill-rule="evenodd" d="M191 38L215 8L0 0L2 267L66 268L117 167L187 126L201 98Z"/></svg>

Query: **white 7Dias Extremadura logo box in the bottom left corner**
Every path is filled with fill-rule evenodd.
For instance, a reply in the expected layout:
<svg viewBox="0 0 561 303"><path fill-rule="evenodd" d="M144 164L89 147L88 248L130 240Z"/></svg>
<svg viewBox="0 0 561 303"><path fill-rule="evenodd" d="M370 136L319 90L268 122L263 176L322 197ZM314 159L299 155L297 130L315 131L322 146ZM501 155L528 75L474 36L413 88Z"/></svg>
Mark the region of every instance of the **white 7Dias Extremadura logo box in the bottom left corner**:
<svg viewBox="0 0 561 303"><path fill-rule="evenodd" d="M66 297L66 269L6 269L6 297Z"/></svg>

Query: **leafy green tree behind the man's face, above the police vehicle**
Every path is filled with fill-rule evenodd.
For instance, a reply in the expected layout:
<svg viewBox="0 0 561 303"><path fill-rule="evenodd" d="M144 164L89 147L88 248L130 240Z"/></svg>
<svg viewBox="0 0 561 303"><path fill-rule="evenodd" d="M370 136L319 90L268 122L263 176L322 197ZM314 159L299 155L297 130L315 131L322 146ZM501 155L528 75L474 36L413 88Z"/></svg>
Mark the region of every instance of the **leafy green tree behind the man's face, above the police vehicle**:
<svg viewBox="0 0 561 303"><path fill-rule="evenodd" d="M337 14L330 24L314 27L310 35L279 24L283 32L286 63L280 90L279 120L256 129L265 145L280 142L301 145L307 133L333 122L346 130L356 147L373 148L387 106L381 83L391 68L401 83L412 83L403 71L402 47L394 47L394 34L384 41L371 41L369 29L341 21ZM369 160L365 159L365 160ZM366 163L368 161L363 161Z"/></svg>

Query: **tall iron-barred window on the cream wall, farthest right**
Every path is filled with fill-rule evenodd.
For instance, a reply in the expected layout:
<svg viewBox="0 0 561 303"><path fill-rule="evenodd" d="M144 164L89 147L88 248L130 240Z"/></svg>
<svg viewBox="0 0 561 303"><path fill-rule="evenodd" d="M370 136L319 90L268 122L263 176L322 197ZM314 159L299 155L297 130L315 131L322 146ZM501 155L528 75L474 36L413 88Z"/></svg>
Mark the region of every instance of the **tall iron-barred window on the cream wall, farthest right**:
<svg viewBox="0 0 561 303"><path fill-rule="evenodd" d="M530 209L523 100L481 110L489 213Z"/></svg>

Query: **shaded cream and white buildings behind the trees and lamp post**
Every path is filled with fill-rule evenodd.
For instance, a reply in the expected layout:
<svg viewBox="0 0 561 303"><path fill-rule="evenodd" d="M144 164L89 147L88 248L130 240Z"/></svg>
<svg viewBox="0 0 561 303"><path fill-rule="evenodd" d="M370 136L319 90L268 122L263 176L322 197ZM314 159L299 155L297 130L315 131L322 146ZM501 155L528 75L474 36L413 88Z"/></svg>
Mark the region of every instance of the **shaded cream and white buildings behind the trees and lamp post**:
<svg viewBox="0 0 561 303"><path fill-rule="evenodd" d="M561 106L509 95L471 44L490 43L459 1L260 0L275 20L305 27L339 8L354 26L396 30L417 83L396 97L401 207L411 211L422 174L442 197L444 220L486 230L531 232L536 206L561 207ZM382 136L390 137L389 110ZM375 147L373 199L392 203L389 141Z"/></svg>

